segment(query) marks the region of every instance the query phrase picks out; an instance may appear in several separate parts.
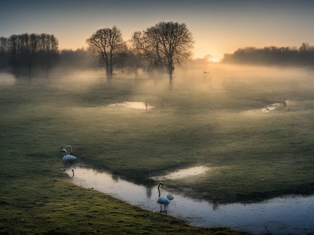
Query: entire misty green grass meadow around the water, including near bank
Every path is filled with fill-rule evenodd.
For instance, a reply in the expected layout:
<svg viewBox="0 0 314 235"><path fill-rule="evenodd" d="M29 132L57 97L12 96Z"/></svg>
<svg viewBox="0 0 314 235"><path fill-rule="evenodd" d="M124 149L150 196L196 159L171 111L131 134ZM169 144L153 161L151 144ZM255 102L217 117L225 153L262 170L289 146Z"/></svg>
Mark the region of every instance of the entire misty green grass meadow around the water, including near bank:
<svg viewBox="0 0 314 235"><path fill-rule="evenodd" d="M0 234L236 234L190 227L71 183L58 149L86 166L138 181L206 165L168 188L219 202L314 191L313 72L215 66L167 76L55 72L1 84ZM295 100L270 113L250 112ZM124 101L155 108L106 107ZM70 165L76 163L70 163ZM222 231L220 231L222 230ZM84 233L85 232L85 233Z"/></svg>

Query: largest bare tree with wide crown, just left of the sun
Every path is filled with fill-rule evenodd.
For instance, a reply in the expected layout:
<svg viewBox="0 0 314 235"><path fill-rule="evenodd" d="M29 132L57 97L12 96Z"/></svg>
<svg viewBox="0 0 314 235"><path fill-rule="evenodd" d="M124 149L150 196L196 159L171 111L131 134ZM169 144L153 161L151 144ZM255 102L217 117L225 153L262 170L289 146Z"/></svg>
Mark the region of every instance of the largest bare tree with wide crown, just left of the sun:
<svg viewBox="0 0 314 235"><path fill-rule="evenodd" d="M167 68L170 79L175 66L182 67L192 60L191 50L195 43L185 23L172 21L134 32L131 42L149 67Z"/></svg>

